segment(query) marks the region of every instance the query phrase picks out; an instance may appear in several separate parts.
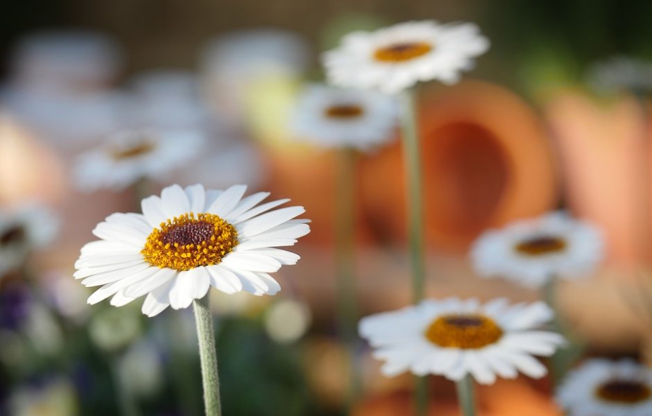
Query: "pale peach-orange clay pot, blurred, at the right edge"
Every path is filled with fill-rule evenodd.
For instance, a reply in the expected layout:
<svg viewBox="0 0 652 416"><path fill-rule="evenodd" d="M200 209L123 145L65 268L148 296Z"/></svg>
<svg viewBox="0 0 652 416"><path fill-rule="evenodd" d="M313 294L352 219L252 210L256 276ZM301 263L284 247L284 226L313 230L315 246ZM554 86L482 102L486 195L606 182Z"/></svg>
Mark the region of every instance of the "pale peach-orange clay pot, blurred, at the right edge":
<svg viewBox="0 0 652 416"><path fill-rule="evenodd" d="M652 137L642 110L633 97L599 102L573 91L556 94L546 105L567 178L567 203L601 227L610 259L622 266L649 262L652 254L651 190L645 189L652 155L644 145Z"/></svg>

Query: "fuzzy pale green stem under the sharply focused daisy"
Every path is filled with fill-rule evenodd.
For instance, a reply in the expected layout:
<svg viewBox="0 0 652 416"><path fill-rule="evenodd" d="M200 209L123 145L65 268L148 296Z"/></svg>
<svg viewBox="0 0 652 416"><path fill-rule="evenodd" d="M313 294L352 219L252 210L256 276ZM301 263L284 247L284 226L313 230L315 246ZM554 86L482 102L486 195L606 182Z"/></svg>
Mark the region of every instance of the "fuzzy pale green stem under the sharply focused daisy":
<svg viewBox="0 0 652 416"><path fill-rule="evenodd" d="M210 293L207 293L203 298L194 300L192 306L197 324L206 416L221 416L220 381L217 373L217 352L209 296Z"/></svg>

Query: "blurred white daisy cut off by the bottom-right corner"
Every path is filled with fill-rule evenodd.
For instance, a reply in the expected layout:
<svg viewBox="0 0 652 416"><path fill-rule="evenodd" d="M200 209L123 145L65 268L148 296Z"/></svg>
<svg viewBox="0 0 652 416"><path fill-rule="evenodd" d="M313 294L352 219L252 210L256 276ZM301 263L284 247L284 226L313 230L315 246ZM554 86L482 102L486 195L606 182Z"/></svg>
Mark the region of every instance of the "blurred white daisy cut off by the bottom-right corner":
<svg viewBox="0 0 652 416"><path fill-rule="evenodd" d="M567 375L556 400L569 416L649 416L652 370L628 359L588 360Z"/></svg>

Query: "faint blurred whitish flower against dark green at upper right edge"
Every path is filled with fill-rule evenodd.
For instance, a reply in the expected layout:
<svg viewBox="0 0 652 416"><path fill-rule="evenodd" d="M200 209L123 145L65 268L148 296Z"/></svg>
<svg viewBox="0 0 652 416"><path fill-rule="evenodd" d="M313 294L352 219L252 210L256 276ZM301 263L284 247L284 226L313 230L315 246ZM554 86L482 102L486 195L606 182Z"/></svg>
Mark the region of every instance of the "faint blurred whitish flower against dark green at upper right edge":
<svg viewBox="0 0 652 416"><path fill-rule="evenodd" d="M652 92L652 62L618 56L594 64L587 78L599 91L625 89L649 94Z"/></svg>

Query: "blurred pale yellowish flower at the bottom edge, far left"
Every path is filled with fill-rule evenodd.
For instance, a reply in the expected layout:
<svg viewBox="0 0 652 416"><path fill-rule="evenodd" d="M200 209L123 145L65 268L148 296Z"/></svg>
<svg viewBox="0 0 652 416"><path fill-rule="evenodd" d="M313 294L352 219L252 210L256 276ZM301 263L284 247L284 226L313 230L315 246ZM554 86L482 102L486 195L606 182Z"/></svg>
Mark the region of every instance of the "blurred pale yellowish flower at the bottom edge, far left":
<svg viewBox="0 0 652 416"><path fill-rule="evenodd" d="M9 398L9 409L12 416L75 416L79 411L74 386L64 378L17 388Z"/></svg>

